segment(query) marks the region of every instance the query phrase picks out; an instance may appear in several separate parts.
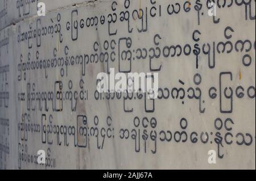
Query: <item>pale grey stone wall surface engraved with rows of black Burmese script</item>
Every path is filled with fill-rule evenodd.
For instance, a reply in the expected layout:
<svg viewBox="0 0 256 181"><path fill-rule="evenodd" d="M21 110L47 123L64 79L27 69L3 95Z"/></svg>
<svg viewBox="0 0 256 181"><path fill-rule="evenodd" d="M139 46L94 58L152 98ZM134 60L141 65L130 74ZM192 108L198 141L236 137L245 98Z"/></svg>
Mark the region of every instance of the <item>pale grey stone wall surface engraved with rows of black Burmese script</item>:
<svg viewBox="0 0 256 181"><path fill-rule="evenodd" d="M255 169L255 1L227 1L218 23L205 1L51 2L44 17L34 4L19 17L14 1L0 2L8 9L4 22L0 12L1 169ZM168 14L175 3L180 12ZM181 53L168 54L171 45ZM97 74L110 68L158 73L159 98L98 94ZM35 163L38 150L46 165Z"/></svg>

